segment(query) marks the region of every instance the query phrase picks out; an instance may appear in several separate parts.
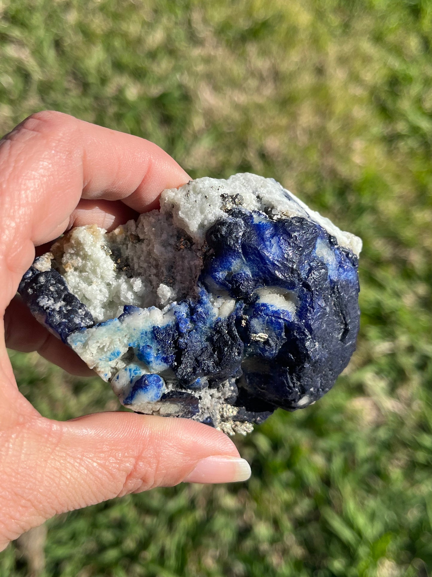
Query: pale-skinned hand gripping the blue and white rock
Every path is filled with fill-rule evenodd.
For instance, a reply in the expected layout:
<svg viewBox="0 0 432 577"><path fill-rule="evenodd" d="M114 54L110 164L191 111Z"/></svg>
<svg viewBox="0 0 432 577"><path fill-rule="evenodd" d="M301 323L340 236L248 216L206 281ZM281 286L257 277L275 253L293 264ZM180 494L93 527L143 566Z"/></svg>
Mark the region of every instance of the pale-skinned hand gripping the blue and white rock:
<svg viewBox="0 0 432 577"><path fill-rule="evenodd" d="M188 419L41 416L18 391L6 351L93 374L16 297L35 247L72 226L112 230L189 179L155 144L66 114L34 114L0 140L0 550L61 512L181 481L249 477L228 437Z"/></svg>

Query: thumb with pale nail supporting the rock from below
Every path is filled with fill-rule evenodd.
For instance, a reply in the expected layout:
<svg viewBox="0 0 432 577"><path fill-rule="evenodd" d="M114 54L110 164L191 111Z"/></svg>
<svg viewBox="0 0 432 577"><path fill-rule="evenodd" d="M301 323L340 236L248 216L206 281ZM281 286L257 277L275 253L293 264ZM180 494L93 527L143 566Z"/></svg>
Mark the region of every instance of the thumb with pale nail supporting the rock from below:
<svg viewBox="0 0 432 577"><path fill-rule="evenodd" d="M188 419L119 412L56 422L33 409L0 437L0 550L60 512L181 481L250 475L228 437Z"/></svg>

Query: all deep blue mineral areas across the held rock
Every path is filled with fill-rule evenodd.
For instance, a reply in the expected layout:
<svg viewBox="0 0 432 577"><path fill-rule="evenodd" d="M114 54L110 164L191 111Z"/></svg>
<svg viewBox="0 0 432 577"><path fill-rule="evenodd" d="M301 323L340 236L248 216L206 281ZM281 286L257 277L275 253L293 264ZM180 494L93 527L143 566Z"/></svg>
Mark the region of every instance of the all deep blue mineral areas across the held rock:
<svg viewBox="0 0 432 577"><path fill-rule="evenodd" d="M232 407L240 423L262 422L276 407L308 406L332 387L355 350L357 267L357 256L313 220L272 220L234 206L207 230L195 295L173 302L166 322L127 333L128 372L112 375L113 387L129 383L120 399L135 410L138 399L150 413L154 403L166 403L177 407L166 414L210 425L217 423L200 403L222 386L224 411ZM55 270L32 267L19 292L73 348L90 327L113 323L120 331L143 311L126 305L117 319L94 323ZM234 299L232 310L215 317L215 297Z"/></svg>

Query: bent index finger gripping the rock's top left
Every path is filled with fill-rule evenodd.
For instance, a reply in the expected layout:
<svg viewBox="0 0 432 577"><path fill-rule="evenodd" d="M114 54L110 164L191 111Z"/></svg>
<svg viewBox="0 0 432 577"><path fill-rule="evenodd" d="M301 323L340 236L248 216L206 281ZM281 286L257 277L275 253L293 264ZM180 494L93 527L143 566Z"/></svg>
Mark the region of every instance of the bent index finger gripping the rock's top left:
<svg viewBox="0 0 432 577"><path fill-rule="evenodd" d="M2 138L0 174L0 268L13 273L7 302L33 246L66 230L81 197L122 200L145 212L162 190L189 179L148 140L52 111L31 115Z"/></svg>

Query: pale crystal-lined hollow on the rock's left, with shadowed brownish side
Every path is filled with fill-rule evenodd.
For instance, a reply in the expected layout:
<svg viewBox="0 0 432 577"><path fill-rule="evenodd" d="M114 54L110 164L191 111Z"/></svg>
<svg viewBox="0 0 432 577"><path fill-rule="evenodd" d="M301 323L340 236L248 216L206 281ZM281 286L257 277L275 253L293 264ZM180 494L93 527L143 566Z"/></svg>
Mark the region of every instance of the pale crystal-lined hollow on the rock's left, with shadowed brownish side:
<svg viewBox="0 0 432 577"><path fill-rule="evenodd" d="M54 268L96 322L123 306L159 306L191 295L202 267L201 246L185 238L172 217L151 211L106 233L75 228L52 247Z"/></svg>

